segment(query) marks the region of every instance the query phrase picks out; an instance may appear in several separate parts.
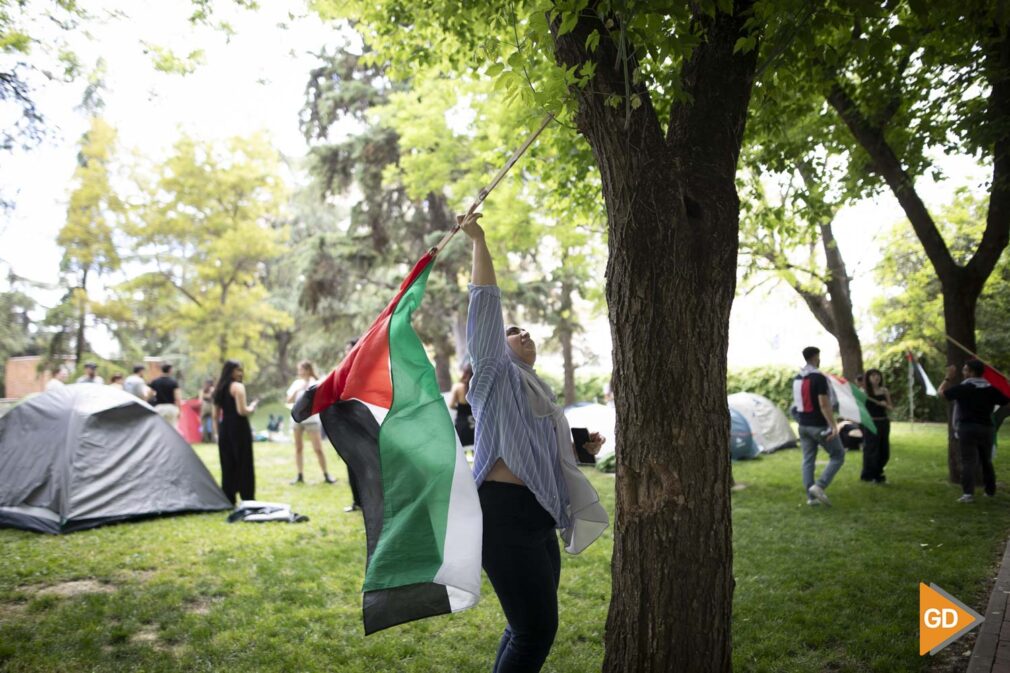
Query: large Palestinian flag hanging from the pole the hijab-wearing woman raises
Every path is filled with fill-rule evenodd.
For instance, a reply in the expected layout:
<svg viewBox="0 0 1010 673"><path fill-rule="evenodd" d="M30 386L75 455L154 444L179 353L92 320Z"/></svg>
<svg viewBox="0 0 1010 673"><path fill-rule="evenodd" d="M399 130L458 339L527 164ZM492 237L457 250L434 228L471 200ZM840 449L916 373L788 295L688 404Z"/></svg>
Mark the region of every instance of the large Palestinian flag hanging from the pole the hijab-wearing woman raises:
<svg viewBox="0 0 1010 673"><path fill-rule="evenodd" d="M366 635L477 604L481 505L435 372L411 326L425 255L335 370L292 416L320 414L358 479L368 562Z"/></svg>

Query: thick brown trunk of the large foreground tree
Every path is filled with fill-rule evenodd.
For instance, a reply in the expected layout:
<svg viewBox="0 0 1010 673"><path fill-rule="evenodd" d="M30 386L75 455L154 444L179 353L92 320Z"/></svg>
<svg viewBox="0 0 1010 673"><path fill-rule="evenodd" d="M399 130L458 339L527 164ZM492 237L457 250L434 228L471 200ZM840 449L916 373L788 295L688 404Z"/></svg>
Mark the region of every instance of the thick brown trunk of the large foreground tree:
<svg viewBox="0 0 1010 673"><path fill-rule="evenodd" d="M732 53L749 3L735 5L735 16L697 16L706 36L682 72L693 102L674 106L666 135L641 84L628 84L641 105L626 118L606 103L626 92L609 37L618 27L608 30L590 7L556 41L564 67L597 67L574 93L610 233L617 513L603 668L613 673L731 668L726 350L734 178L755 63L755 52ZM594 29L604 37L589 54Z"/></svg>

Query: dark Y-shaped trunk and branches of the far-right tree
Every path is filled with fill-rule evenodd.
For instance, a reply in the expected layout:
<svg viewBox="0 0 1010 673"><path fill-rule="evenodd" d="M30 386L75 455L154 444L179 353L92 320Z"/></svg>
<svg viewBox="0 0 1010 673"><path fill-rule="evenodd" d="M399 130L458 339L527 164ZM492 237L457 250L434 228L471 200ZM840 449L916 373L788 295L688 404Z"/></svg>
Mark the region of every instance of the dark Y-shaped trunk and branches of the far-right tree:
<svg viewBox="0 0 1010 673"><path fill-rule="evenodd" d="M946 333L976 351L975 309L979 295L1010 241L1010 25L993 25L983 68L992 91L988 101L992 126L993 178L990 183L986 230L968 264L960 265L950 255L943 235L915 189L915 182L888 143L885 128L876 125L860 108L841 82L827 93L828 103L870 156L873 170L894 193L915 235L929 258L943 291L943 326ZM957 364L966 354L952 343L946 345L947 362ZM947 467L950 481L961 480L961 457L953 430L948 425Z"/></svg>

